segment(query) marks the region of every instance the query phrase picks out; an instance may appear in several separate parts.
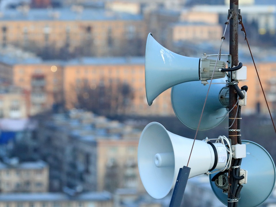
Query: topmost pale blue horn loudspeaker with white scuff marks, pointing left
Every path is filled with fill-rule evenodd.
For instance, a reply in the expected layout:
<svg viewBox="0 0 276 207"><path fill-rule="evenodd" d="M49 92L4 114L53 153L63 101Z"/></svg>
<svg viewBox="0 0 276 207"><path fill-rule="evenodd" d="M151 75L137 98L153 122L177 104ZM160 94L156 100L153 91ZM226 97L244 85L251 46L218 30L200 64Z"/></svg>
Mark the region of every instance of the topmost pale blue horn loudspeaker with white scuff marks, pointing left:
<svg viewBox="0 0 276 207"><path fill-rule="evenodd" d="M218 68L225 68L225 62L215 60L185 57L178 55L160 45L150 33L147 37L145 51L145 87L147 102L152 105L153 100L163 91L189 81L210 80L223 78L225 72L218 72ZM204 82L205 83L205 82Z"/></svg>

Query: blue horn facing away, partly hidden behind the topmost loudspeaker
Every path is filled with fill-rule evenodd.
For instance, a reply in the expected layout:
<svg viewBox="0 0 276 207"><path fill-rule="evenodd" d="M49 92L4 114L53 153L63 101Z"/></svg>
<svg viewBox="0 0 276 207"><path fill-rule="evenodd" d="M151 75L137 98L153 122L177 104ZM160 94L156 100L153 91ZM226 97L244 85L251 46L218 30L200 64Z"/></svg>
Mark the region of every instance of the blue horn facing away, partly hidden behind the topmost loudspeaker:
<svg viewBox="0 0 276 207"><path fill-rule="evenodd" d="M220 124L227 110L219 100L226 78L212 80L199 130L207 130ZM177 118L191 129L197 129L209 86L200 81L181 83L172 87L171 101Z"/></svg>

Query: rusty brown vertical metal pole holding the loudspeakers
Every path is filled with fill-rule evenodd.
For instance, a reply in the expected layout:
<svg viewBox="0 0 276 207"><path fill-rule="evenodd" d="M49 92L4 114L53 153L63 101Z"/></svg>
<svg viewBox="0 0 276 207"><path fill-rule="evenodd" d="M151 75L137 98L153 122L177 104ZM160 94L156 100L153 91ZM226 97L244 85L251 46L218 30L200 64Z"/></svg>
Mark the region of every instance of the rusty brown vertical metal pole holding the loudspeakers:
<svg viewBox="0 0 276 207"><path fill-rule="evenodd" d="M239 24L239 0L230 0L230 9L229 14L231 13L232 18L230 19L230 35L229 35L229 54L232 57L232 65L231 67L237 66L239 63L238 60L238 24ZM232 79L231 74L231 82L234 81ZM237 119L235 119L235 116L237 114L238 107L236 105L237 102L237 93L233 87L233 85L229 86L229 109L233 110L229 113L229 139L231 139L231 144L235 145L237 144ZM234 123L233 123L234 122ZM234 129L234 130L233 130ZM231 147L231 146L230 146ZM232 159L233 163L233 159ZM229 173L232 173L231 169ZM233 185L233 179L232 176L229 176L229 185L230 189L235 186ZM230 198L231 193L228 192L228 198ZM228 203L229 204L229 203Z"/></svg>

